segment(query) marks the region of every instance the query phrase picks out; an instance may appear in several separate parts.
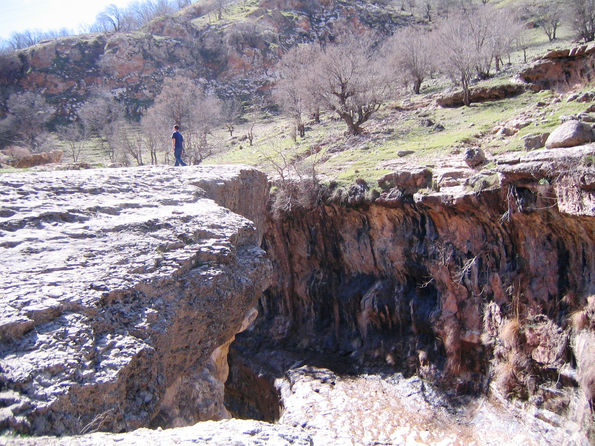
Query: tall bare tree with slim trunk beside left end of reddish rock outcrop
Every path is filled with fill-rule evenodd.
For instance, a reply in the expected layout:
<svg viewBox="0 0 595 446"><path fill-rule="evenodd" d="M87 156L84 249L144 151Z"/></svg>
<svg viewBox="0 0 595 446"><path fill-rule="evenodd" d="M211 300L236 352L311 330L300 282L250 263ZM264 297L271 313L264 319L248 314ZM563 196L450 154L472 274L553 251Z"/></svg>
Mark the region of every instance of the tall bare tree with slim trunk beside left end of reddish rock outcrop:
<svg viewBox="0 0 595 446"><path fill-rule="evenodd" d="M463 103L469 106L469 81L481 62L473 30L466 17L459 14L441 23L439 36L443 69L461 81Z"/></svg>

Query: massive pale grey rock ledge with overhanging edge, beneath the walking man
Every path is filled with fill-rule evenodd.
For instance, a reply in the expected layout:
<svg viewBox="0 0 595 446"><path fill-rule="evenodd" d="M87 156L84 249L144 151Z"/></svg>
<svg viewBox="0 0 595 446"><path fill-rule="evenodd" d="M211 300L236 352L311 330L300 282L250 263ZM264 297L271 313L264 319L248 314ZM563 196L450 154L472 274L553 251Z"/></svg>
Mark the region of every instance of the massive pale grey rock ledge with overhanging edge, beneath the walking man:
<svg viewBox="0 0 595 446"><path fill-rule="evenodd" d="M241 165L2 175L0 428L227 417L226 348L270 281L248 219L266 191Z"/></svg>

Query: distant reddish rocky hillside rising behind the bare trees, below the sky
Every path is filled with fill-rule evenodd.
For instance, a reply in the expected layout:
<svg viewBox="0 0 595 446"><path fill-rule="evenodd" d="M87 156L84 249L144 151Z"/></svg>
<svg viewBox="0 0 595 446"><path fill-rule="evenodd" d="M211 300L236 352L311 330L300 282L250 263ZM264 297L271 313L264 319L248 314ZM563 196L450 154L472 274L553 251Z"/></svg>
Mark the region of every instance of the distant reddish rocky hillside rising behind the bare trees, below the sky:
<svg viewBox="0 0 595 446"><path fill-rule="evenodd" d="M98 87L110 90L130 114L142 114L163 78L176 73L198 80L208 93L248 97L271 88L275 65L295 45L324 42L335 27L390 35L407 20L359 0L322 2L321 8L306 3L262 0L240 20L255 23L252 31L225 14L221 21L203 20L207 11L193 4L134 32L44 41L18 51L18 85L43 91L61 118L73 115Z"/></svg>

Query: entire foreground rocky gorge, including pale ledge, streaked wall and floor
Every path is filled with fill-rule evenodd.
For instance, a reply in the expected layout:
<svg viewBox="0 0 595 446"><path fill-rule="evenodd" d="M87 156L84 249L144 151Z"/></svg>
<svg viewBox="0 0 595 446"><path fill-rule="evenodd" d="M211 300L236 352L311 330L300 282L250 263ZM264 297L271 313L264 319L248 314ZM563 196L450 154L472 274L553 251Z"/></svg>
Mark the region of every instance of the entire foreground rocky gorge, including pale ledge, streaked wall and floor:
<svg viewBox="0 0 595 446"><path fill-rule="evenodd" d="M6 442L593 444L593 156L2 177L4 429L114 432Z"/></svg>

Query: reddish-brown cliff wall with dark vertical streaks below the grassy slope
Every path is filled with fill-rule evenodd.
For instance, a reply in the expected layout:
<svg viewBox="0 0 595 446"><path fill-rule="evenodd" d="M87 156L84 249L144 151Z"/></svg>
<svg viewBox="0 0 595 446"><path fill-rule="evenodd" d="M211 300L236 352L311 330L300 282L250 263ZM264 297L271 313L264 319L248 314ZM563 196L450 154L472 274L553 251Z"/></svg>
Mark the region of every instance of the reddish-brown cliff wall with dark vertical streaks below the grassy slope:
<svg viewBox="0 0 595 446"><path fill-rule="evenodd" d="M544 422L535 432L556 426L559 441L593 441L594 153L511 155L463 186L421 193L431 174L409 169L380 181L380 197L357 184L270 219L273 285L255 328L232 344L231 412L270 417L267 381L295 409L300 391L287 389L305 365L399 371L437 385L452 407L461 395L519 398ZM242 391L250 373L262 391Z"/></svg>

